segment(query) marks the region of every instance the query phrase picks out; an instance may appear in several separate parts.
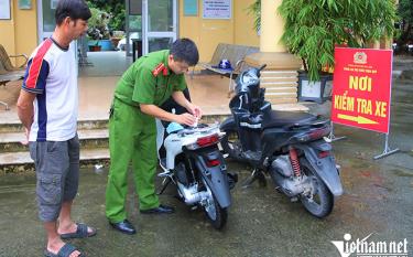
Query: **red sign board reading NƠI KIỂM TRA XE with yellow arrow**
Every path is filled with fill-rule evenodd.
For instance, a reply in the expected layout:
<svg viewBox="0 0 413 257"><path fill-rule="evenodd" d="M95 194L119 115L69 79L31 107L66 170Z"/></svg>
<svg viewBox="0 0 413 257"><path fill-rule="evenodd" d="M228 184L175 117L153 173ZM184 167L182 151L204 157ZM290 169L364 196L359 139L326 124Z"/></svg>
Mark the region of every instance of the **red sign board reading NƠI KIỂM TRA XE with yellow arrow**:
<svg viewBox="0 0 413 257"><path fill-rule="evenodd" d="M332 120L389 132L391 50L336 47Z"/></svg>

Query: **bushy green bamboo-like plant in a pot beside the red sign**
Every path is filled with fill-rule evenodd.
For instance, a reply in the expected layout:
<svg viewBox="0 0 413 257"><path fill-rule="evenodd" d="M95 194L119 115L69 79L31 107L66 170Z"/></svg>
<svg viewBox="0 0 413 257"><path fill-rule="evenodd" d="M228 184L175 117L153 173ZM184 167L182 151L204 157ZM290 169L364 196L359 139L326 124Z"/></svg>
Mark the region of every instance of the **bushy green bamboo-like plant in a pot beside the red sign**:
<svg viewBox="0 0 413 257"><path fill-rule="evenodd" d="M260 3L257 0L250 10L260 10ZM395 20L393 0L283 0L276 11L285 22L281 41L303 61L300 82L319 85L322 94L323 83L333 78L335 46L367 47L371 42L391 38ZM257 29L259 13L254 14ZM298 98L301 89L298 85ZM318 100L323 101L320 97Z"/></svg>

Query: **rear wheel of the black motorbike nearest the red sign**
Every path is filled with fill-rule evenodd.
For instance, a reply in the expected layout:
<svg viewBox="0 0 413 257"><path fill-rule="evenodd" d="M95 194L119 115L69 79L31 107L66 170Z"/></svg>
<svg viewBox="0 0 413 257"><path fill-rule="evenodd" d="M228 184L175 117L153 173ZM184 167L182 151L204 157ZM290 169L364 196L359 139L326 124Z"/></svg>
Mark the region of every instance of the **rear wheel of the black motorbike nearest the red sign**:
<svg viewBox="0 0 413 257"><path fill-rule="evenodd" d="M312 180L313 190L309 195L302 195L301 203L312 215L323 218L332 213L334 196L313 167L304 158L301 159L302 171Z"/></svg>

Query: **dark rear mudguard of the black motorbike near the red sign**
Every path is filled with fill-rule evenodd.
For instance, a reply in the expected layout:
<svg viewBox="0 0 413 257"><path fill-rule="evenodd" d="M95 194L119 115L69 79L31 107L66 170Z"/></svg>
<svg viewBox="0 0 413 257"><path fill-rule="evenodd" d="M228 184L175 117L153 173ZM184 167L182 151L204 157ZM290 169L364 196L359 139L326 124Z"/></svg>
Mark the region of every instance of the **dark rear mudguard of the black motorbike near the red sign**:
<svg viewBox="0 0 413 257"><path fill-rule="evenodd" d="M344 193L341 180L336 167L336 161L333 156L318 158L316 150L311 146L301 144L296 148L304 151L305 158L313 167L320 180L326 184L334 196L339 196Z"/></svg>

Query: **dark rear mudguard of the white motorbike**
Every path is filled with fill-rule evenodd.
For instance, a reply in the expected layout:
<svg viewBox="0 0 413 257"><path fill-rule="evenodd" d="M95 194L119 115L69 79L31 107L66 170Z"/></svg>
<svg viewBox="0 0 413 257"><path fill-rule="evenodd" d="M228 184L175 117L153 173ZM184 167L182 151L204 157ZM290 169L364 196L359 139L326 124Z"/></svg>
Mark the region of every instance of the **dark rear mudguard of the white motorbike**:
<svg viewBox="0 0 413 257"><path fill-rule="evenodd" d="M221 165L207 167L202 157L196 158L195 164L200 171L202 178L208 184L219 206L225 208L231 205L231 194L226 168Z"/></svg>

